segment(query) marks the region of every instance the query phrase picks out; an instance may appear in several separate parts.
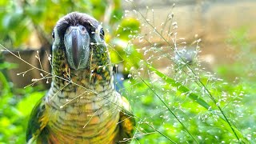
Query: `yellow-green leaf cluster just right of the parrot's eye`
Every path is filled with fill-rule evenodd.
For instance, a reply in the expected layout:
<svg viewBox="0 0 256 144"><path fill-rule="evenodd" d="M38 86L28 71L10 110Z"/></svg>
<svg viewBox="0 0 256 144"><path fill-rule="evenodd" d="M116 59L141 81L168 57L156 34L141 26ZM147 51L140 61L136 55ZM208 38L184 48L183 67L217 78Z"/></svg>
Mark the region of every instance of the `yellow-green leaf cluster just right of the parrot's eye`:
<svg viewBox="0 0 256 144"><path fill-rule="evenodd" d="M122 62L123 74L129 74L131 67L138 68L142 54L138 53L137 47L130 40L139 33L140 23L135 18L122 18L122 22L117 29L113 30L113 35L110 41L110 57L113 63Z"/></svg>

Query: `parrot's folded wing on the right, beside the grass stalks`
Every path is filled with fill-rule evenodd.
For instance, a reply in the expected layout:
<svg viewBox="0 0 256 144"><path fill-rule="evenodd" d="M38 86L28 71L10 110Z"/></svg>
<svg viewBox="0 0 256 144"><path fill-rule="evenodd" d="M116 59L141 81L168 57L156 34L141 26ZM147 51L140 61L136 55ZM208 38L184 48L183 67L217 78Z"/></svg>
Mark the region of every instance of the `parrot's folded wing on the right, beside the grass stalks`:
<svg viewBox="0 0 256 144"><path fill-rule="evenodd" d="M119 118L119 142L128 142L133 138L135 118L130 111L130 103L125 97L122 97L122 110Z"/></svg>

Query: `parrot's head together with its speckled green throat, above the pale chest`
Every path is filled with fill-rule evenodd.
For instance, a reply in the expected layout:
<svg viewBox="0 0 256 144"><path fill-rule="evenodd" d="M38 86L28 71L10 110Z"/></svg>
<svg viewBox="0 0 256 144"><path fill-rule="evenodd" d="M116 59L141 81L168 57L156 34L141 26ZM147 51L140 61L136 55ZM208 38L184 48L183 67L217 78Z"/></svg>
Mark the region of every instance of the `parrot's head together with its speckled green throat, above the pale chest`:
<svg viewBox="0 0 256 144"><path fill-rule="evenodd" d="M51 66L57 76L53 77L56 86L65 84L64 78L85 87L112 82L104 30L95 18L78 12L66 14L58 20L52 36Z"/></svg>

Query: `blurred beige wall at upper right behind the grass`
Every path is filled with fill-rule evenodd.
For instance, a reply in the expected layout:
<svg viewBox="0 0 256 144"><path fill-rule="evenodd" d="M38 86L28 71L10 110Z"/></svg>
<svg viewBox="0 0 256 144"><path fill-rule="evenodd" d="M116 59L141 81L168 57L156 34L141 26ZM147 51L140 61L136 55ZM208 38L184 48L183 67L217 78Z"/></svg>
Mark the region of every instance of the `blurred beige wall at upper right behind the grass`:
<svg viewBox="0 0 256 144"><path fill-rule="evenodd" d="M256 1L255 0L162 0L134 1L135 10L146 14L152 20L154 9L154 26L160 27L165 22L171 7L174 21L178 22L178 38L186 38L189 44L196 38L202 39L203 55L211 55L214 64L229 63L234 60L232 47L227 45L230 30L241 27L248 29L248 38L256 39ZM122 3L125 9L134 10L134 6ZM146 6L149 8L146 9ZM142 27L142 33L148 34L149 29ZM156 42L162 41L155 38ZM256 43L254 43L254 46Z"/></svg>

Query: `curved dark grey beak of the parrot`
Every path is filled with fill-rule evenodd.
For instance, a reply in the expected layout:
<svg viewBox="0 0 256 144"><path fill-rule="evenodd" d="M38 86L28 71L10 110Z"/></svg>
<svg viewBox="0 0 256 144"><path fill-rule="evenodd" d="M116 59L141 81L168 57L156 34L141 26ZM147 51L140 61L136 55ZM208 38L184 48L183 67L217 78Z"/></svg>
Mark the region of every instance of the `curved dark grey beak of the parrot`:
<svg viewBox="0 0 256 144"><path fill-rule="evenodd" d="M72 69L86 68L90 54L90 35L84 26L70 26L64 35L66 57Z"/></svg>

